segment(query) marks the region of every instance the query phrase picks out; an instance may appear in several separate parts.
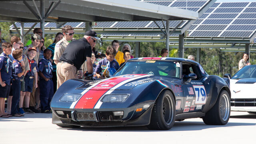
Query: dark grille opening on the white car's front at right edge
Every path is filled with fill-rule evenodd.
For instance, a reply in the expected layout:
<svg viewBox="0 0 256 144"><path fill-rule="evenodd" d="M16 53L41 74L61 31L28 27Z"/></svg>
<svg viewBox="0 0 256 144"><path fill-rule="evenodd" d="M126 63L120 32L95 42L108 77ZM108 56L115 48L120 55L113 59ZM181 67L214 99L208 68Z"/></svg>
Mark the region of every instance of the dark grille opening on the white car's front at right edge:
<svg viewBox="0 0 256 144"><path fill-rule="evenodd" d="M231 106L256 106L256 98L231 98Z"/></svg>

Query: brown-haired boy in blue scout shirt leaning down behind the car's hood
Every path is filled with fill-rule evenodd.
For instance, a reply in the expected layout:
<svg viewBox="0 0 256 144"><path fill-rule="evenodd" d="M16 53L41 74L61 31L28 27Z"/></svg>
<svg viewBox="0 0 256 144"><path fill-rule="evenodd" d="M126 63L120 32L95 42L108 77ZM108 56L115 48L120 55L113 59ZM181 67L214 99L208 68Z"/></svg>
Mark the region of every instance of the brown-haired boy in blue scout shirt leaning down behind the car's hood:
<svg viewBox="0 0 256 144"><path fill-rule="evenodd" d="M98 65L96 66L95 72L96 72L96 76L98 78L104 78L103 76L103 72L106 68L114 68L116 70L118 70L120 68L118 62L115 59L116 56L116 50L110 46L108 46L107 50L106 50L106 58L104 58L103 60L100 60L98 62Z"/></svg>

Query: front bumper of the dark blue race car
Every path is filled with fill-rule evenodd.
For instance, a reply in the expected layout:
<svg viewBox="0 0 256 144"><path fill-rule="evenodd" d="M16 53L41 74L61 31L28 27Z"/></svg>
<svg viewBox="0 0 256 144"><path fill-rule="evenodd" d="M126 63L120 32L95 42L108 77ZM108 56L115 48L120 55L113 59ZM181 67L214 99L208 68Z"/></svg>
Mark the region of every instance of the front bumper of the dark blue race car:
<svg viewBox="0 0 256 144"><path fill-rule="evenodd" d="M146 126L150 124L154 104L138 113L134 108L125 109L67 109L52 108L53 124L68 124L86 127ZM62 111L63 114L58 111ZM123 116L114 116L113 112L124 111ZM86 115L88 117L81 117Z"/></svg>

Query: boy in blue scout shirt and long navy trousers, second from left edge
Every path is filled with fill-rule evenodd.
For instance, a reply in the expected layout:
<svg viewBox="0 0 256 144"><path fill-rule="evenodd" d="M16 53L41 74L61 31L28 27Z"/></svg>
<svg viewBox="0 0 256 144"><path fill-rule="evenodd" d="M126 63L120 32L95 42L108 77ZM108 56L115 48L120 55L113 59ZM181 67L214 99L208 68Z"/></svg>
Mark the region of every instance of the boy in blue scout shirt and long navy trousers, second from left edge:
<svg viewBox="0 0 256 144"><path fill-rule="evenodd" d="M24 66L21 66L20 60L22 60L22 50L14 50L12 52L14 58L12 65L12 107L11 114L12 116L24 116L19 114L19 100L20 100L20 88L22 75L25 72Z"/></svg>

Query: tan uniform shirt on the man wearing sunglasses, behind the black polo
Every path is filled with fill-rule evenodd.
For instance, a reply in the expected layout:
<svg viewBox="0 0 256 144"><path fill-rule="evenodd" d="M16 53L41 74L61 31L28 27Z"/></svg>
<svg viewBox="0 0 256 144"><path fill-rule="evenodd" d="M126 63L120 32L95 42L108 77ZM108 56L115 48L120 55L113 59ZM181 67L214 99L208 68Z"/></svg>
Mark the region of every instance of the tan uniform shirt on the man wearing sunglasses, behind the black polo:
<svg viewBox="0 0 256 144"><path fill-rule="evenodd" d="M53 60L60 60L61 55L66 50L69 42L66 38L62 38L62 40L58 41L54 47L54 56Z"/></svg>

